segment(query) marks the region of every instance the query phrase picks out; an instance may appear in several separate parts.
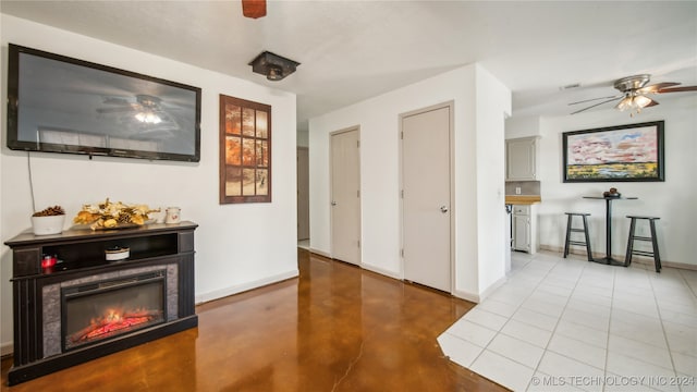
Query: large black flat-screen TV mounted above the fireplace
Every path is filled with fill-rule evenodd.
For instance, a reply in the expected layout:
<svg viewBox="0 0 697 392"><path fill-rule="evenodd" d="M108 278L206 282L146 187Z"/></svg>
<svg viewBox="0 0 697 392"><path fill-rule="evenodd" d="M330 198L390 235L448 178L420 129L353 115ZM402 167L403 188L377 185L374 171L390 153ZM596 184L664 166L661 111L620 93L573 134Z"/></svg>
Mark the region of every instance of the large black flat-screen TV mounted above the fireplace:
<svg viewBox="0 0 697 392"><path fill-rule="evenodd" d="M198 162L200 91L10 44L8 147Z"/></svg>

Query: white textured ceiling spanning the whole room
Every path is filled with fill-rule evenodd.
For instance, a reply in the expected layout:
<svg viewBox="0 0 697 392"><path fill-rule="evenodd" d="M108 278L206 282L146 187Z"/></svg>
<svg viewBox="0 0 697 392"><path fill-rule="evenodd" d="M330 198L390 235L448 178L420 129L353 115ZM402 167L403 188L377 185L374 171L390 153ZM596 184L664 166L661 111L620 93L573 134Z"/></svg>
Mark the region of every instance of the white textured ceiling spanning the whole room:
<svg viewBox="0 0 697 392"><path fill-rule="evenodd" d="M0 11L293 91L299 128L474 62L511 88L514 117L570 113L568 102L612 96L614 79L637 73L697 85L695 1L269 0L258 20L243 17L237 0L2 0ZM247 65L262 50L302 64L268 82Z"/></svg>

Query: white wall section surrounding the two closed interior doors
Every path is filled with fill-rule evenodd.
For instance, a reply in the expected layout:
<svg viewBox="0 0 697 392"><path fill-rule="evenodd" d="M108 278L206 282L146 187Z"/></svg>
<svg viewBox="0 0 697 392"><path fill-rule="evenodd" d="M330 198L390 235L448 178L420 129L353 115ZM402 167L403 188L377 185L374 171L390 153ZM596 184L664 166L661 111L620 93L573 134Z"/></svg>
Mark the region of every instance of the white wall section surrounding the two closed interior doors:
<svg viewBox="0 0 697 392"><path fill-rule="evenodd" d="M331 255L329 134L360 126L363 267L402 279L399 115L453 101L454 294L478 301L503 277L503 119L511 95L468 65L310 119L310 247Z"/></svg>

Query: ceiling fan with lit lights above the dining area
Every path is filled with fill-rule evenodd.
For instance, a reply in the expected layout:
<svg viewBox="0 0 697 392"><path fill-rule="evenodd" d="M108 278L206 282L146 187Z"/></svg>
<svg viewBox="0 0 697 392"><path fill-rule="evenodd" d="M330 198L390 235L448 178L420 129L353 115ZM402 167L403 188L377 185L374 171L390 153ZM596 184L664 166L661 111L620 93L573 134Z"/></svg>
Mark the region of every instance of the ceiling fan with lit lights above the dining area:
<svg viewBox="0 0 697 392"><path fill-rule="evenodd" d="M576 110L572 114L580 113L588 109L595 108L597 106L612 102L615 100L620 100L617 105L615 105L615 109L617 110L631 110L632 113L629 115L634 117L634 112L639 113L641 109L657 106L659 105L653 99L647 97L648 94L664 94L664 93L683 93L683 91L697 91L697 86L678 86L680 83L676 82L663 82L657 83L650 86L647 86L649 81L651 79L651 75L649 74L640 74L634 76L627 76L614 82L614 88L620 90L620 95L612 97L600 97L592 99L585 99L576 102L571 102L568 105L579 105L592 102L596 100L603 99L603 101L599 103L594 103L589 107L583 108L580 110Z"/></svg>

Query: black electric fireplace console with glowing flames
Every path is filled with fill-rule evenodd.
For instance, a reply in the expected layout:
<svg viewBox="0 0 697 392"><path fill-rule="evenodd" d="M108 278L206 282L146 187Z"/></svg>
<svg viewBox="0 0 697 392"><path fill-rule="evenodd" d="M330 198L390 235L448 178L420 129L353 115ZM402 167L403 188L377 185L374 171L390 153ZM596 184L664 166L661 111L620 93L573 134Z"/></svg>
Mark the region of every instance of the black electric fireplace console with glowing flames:
<svg viewBox="0 0 697 392"><path fill-rule="evenodd" d="M10 385L198 326L193 222L22 233L12 248ZM108 261L106 252L127 249ZM53 262L56 262L53 265Z"/></svg>

